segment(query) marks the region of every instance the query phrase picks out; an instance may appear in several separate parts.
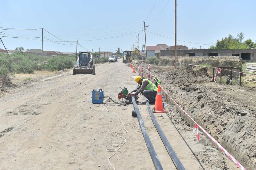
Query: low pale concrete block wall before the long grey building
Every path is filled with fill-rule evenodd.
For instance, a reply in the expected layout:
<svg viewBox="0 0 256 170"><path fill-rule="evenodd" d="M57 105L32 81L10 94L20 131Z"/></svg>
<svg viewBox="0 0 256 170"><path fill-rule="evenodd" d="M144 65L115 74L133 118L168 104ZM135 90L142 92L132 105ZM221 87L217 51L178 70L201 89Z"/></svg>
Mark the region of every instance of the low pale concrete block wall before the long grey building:
<svg viewBox="0 0 256 170"><path fill-rule="evenodd" d="M160 56L160 59L165 60L174 60L174 56ZM188 61L192 61L192 63L196 63L197 61L219 61L219 63L223 63L224 61L233 61L237 65L242 64L241 56L195 56L195 57L185 57L185 56L177 56L177 62L185 63Z"/></svg>

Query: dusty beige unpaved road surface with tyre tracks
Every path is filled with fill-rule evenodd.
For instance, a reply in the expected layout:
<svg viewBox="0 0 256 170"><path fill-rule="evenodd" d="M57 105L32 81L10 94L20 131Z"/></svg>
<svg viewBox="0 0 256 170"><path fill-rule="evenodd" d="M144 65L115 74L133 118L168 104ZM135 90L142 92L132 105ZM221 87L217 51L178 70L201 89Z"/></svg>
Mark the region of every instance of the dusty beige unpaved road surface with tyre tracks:
<svg viewBox="0 0 256 170"><path fill-rule="evenodd" d="M131 91L133 76L139 74L121 60L98 64L95 73L72 75L69 70L31 80L0 96L1 170L155 169L138 119L131 116L133 106L107 98L102 104L91 103L91 91L99 88L119 102L119 87ZM165 104L167 113L155 117L186 170L237 169L207 137L201 134L197 142L193 127L175 106ZM174 169L146 105L138 106L163 169Z"/></svg>

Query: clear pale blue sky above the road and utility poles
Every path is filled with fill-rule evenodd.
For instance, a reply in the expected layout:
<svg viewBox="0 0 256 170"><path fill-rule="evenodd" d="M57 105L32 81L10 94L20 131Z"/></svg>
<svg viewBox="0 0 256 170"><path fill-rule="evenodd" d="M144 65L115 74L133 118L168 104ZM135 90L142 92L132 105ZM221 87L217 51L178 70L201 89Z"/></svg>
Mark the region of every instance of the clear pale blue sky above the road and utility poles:
<svg viewBox="0 0 256 170"><path fill-rule="evenodd" d="M177 44L207 49L240 32L244 40L255 42L255 7L255 0L177 0ZM43 50L76 52L78 39L85 49L114 52L118 47L130 50L135 41L138 46L138 34L140 46L145 44L143 21L147 45L174 45L174 0L1 1L0 35L7 49L41 49L41 38L9 37L41 37L44 28Z"/></svg>

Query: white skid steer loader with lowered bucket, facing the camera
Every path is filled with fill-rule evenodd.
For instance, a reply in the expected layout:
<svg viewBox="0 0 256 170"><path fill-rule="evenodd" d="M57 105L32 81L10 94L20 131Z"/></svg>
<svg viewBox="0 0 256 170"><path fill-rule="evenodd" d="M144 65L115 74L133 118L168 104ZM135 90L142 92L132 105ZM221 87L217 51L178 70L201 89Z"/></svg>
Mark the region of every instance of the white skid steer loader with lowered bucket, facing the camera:
<svg viewBox="0 0 256 170"><path fill-rule="evenodd" d="M76 66L73 68L73 75L76 74L95 74L95 65L93 65L93 53L79 52Z"/></svg>

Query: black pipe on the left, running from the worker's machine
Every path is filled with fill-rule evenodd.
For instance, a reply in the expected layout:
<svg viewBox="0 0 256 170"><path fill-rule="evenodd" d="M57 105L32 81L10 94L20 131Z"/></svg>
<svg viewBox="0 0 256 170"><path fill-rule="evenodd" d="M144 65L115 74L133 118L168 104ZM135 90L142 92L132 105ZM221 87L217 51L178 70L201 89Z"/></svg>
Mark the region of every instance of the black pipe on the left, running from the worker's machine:
<svg viewBox="0 0 256 170"><path fill-rule="evenodd" d="M144 126L142 117L140 115L139 107L137 106L137 103L135 101L135 97L131 96L131 98L132 98L133 107L136 110L136 114L137 114L137 117L138 117L138 121L139 121L139 124L140 124L140 129L141 129L142 135L143 135L144 140L147 144L147 148L148 148L149 154L151 156L151 159L154 163L155 169L156 170L163 170L163 167L162 167L162 165L161 165L161 163L158 159L157 153L155 152L154 147L153 147L153 145L152 145L152 143L149 139L149 136L147 134L147 131L146 131L146 128Z"/></svg>

